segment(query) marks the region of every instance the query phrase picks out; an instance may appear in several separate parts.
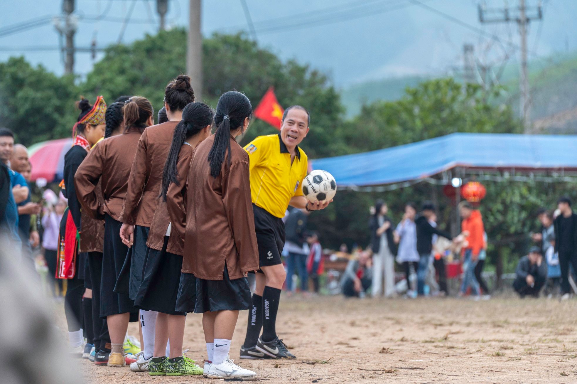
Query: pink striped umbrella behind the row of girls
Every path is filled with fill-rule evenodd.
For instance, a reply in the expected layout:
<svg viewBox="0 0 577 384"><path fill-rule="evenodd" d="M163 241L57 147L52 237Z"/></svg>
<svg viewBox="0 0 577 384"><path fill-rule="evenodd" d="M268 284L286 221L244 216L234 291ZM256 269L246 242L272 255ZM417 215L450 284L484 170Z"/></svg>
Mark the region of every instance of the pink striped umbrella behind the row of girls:
<svg viewBox="0 0 577 384"><path fill-rule="evenodd" d="M48 140L28 148L32 163L32 181L45 178L48 182L59 182L64 177L64 155L72 147L73 139Z"/></svg>

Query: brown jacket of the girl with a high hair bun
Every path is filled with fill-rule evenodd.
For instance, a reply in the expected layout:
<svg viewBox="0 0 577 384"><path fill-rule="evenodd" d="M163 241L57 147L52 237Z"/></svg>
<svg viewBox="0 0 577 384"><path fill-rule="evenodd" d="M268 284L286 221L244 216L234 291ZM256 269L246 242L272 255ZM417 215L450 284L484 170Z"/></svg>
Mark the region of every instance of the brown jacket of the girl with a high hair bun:
<svg viewBox="0 0 577 384"><path fill-rule="evenodd" d="M158 206L164 163L173 140L178 121L149 126L138 141L138 149L131 162L128 191L119 221L149 227Z"/></svg>

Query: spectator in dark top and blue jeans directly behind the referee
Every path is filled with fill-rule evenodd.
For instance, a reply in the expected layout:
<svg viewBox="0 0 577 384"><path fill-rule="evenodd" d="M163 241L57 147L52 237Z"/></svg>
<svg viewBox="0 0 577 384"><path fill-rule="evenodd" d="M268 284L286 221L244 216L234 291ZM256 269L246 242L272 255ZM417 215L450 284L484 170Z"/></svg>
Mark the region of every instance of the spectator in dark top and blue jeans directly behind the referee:
<svg viewBox="0 0 577 384"><path fill-rule="evenodd" d="M306 243L306 221L309 213L304 209L294 208L284 223L286 232L287 257L287 294L293 292L293 275L298 270L301 281L301 292L308 292L309 277L306 271L306 258L309 255L309 245Z"/></svg>

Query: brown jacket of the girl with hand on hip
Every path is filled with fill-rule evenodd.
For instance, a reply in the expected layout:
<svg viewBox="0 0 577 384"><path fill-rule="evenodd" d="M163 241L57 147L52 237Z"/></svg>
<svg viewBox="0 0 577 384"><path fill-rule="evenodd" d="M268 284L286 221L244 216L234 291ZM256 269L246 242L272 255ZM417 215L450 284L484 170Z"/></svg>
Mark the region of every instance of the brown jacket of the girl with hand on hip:
<svg viewBox="0 0 577 384"><path fill-rule="evenodd" d="M107 213L118 220L126 195L132 159L136 153L140 132L137 130L108 137L86 156L74 177L78 200L83 210L94 218L104 218ZM96 187L102 181L104 199L98 199Z"/></svg>

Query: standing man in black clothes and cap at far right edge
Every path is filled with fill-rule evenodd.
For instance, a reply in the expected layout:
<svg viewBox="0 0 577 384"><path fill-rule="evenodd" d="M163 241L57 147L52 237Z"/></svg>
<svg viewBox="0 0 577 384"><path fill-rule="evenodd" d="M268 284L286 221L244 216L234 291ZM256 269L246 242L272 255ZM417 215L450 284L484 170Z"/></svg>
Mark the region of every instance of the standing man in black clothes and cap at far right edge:
<svg viewBox="0 0 577 384"><path fill-rule="evenodd" d="M561 300L570 296L569 263L577 271L577 215L571 208L571 199L561 197L557 203L560 215L555 219L555 252L559 253L561 267Z"/></svg>

